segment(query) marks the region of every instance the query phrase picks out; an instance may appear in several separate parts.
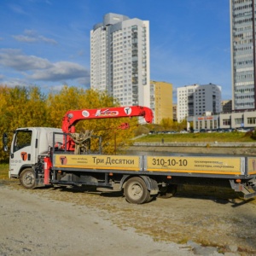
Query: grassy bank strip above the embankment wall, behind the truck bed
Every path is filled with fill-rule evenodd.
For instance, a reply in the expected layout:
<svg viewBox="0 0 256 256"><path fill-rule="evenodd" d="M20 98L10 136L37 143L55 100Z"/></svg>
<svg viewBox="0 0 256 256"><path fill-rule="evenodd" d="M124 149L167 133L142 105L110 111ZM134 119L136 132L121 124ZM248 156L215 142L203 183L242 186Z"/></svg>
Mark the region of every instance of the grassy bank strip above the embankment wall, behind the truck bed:
<svg viewBox="0 0 256 256"><path fill-rule="evenodd" d="M152 134L135 140L139 143L256 143L256 140L247 133L242 132L212 132L212 133L187 133L187 134Z"/></svg>

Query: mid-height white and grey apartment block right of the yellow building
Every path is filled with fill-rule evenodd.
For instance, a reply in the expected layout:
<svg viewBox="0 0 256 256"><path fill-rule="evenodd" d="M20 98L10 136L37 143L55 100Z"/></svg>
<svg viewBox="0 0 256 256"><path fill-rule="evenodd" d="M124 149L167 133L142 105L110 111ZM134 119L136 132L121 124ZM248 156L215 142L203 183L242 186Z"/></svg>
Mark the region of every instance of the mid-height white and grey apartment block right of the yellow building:
<svg viewBox="0 0 256 256"><path fill-rule="evenodd" d="M177 121L207 112L221 112L221 87L193 84L177 88Z"/></svg>

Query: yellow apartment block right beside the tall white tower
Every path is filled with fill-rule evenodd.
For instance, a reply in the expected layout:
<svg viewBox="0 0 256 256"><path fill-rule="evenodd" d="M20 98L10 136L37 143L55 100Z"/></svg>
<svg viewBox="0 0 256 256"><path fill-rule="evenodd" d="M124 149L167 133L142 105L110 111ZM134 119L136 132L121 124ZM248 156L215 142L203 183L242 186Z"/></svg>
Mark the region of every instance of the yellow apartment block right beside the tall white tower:
<svg viewBox="0 0 256 256"><path fill-rule="evenodd" d="M150 108L154 112L154 124L162 119L172 119L172 84L150 82Z"/></svg>

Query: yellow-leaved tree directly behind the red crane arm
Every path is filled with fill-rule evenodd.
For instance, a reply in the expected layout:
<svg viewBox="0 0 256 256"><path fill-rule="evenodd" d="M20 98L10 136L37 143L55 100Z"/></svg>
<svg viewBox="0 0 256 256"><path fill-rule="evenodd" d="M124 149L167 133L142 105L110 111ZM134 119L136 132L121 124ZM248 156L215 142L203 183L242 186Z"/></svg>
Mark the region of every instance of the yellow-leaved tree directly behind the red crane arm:
<svg viewBox="0 0 256 256"><path fill-rule="evenodd" d="M81 110L93 108L112 108L118 107L112 96L106 92L97 90L83 90L77 87L64 86L60 93L50 93L47 101L49 113L49 123L54 127L61 128L62 117L68 110ZM129 121L130 128L127 130L119 129L122 123ZM85 130L93 131L93 136L102 137L102 152L114 154L119 147L124 147L131 143L133 131L137 127L137 119L86 119L80 120L76 125L76 132ZM91 149L98 148L98 139L91 140Z"/></svg>

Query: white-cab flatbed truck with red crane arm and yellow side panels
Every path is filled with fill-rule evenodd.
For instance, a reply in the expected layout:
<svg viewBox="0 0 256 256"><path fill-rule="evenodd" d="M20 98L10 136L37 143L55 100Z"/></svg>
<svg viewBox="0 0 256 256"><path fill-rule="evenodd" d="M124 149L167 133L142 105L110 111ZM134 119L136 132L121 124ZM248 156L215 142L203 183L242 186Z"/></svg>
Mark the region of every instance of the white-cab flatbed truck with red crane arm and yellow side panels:
<svg viewBox="0 0 256 256"><path fill-rule="evenodd" d="M95 186L124 191L126 201L143 204L157 195L170 197L177 185L231 186L246 199L256 196L254 156L154 156L91 154L90 132L80 137L73 125L79 119L143 116L145 107L69 111L62 129L18 128L9 154L9 177L26 189L42 186ZM126 124L127 125L127 124ZM3 134L3 148L8 150Z"/></svg>

